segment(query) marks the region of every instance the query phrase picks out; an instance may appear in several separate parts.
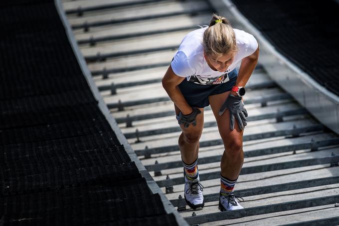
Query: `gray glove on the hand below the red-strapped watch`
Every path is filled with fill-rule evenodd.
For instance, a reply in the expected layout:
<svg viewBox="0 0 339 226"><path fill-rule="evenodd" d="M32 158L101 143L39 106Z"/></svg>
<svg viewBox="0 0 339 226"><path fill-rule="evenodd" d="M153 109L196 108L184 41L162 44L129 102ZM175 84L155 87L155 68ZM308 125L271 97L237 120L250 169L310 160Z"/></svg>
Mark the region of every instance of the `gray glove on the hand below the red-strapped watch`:
<svg viewBox="0 0 339 226"><path fill-rule="evenodd" d="M245 109L244 103L241 101L241 97L228 95L227 100L221 106L219 110L219 115L221 116L225 110L229 110L229 117L230 117L230 129L234 130L234 116L238 121L238 125L240 130L244 129L244 126L247 125L246 117L248 116L247 111Z"/></svg>

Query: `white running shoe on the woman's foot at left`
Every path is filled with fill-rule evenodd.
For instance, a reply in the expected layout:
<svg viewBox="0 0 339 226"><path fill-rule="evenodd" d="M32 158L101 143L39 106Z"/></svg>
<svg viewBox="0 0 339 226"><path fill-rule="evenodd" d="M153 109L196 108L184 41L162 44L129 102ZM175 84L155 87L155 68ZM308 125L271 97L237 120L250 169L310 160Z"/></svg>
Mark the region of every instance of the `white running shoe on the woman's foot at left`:
<svg viewBox="0 0 339 226"><path fill-rule="evenodd" d="M203 186L200 184L199 175L194 180L189 180L184 174L185 178L185 201L187 205L193 210L202 210L205 205L202 188Z"/></svg>

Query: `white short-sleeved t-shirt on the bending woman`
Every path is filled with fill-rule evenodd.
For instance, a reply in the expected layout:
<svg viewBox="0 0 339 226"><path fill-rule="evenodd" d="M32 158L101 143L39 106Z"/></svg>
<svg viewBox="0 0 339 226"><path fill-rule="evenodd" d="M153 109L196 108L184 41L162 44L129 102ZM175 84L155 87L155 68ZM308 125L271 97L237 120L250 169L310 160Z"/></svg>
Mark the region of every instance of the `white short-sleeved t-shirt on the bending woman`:
<svg viewBox="0 0 339 226"><path fill-rule="evenodd" d="M233 28L238 52L225 72L214 71L204 58L202 37L205 29L207 27L193 30L182 39L170 64L176 75L186 77L187 80L193 75L201 79L220 77L235 69L238 62L253 54L258 48L258 42L252 34Z"/></svg>

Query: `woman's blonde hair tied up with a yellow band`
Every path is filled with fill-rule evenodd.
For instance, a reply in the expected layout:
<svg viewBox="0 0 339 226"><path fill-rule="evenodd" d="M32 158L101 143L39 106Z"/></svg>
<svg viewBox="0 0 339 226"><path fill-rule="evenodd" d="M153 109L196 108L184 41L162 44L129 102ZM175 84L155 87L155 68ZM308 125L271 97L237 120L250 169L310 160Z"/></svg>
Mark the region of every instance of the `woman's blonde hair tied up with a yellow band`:
<svg viewBox="0 0 339 226"><path fill-rule="evenodd" d="M212 56L238 51L235 33L228 19L214 14L203 33L202 45L205 54Z"/></svg>

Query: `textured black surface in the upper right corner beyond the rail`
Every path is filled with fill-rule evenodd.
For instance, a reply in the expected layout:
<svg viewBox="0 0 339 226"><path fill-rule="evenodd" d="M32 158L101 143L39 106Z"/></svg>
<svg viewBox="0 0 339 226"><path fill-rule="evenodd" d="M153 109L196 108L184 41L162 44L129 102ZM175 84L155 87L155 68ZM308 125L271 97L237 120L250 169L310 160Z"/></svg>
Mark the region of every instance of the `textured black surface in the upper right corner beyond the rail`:
<svg viewBox="0 0 339 226"><path fill-rule="evenodd" d="M335 0L233 0L282 53L339 95L339 4Z"/></svg>

